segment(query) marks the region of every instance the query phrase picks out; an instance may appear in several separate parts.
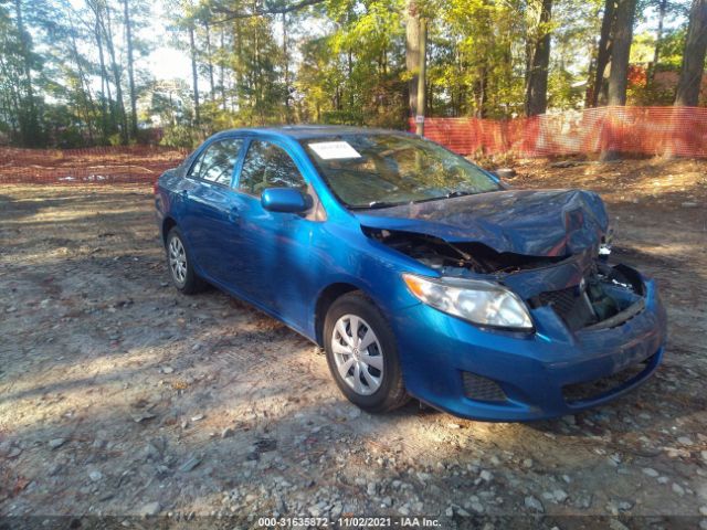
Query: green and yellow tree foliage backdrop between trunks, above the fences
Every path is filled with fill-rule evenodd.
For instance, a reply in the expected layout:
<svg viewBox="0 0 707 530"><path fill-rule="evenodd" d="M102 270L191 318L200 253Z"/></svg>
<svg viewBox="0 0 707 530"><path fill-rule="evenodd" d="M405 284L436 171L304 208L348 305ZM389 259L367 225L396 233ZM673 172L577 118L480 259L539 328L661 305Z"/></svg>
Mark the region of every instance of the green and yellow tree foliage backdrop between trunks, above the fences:
<svg viewBox="0 0 707 530"><path fill-rule="evenodd" d="M521 115L531 54L548 34L549 108L580 108L604 6L553 0L550 21L540 23L542 0L323 0L302 9L282 0L161 1L171 44L193 57L198 87L140 68L158 44L140 33L152 15L148 0L0 0L3 138L24 146L117 145L156 141L161 129L163 145L192 147L241 126L408 128L409 82L416 75L405 65L405 26L416 23L411 13L428 20L428 116ZM672 103L674 87L653 82L653 74L661 80L679 70L689 2L666 4L658 41L661 1L641 0L632 63L650 64L656 46L659 61L647 83L630 86L631 103Z"/></svg>

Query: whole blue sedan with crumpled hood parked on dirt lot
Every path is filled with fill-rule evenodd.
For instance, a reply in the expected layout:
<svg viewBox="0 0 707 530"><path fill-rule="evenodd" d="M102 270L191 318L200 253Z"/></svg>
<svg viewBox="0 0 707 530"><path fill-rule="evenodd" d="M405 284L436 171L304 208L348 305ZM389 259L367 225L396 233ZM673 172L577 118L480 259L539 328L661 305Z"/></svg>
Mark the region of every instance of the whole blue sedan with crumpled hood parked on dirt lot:
<svg viewBox="0 0 707 530"><path fill-rule="evenodd" d="M413 135L220 132L156 205L177 289L214 285L320 344L370 412L414 396L476 420L572 414L663 356L656 285L610 264L599 195L510 190Z"/></svg>

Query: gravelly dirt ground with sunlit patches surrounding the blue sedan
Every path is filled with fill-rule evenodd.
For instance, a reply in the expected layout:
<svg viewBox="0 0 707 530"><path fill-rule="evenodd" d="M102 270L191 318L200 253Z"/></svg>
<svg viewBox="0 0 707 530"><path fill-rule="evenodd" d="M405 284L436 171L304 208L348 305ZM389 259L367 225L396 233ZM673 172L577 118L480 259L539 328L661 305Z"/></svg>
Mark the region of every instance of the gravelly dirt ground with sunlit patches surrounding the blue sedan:
<svg viewBox="0 0 707 530"><path fill-rule="evenodd" d="M659 282L664 364L610 406L530 424L361 413L307 340L168 284L147 186L0 188L0 521L707 529L707 162L515 169L514 187L599 191L613 259Z"/></svg>

